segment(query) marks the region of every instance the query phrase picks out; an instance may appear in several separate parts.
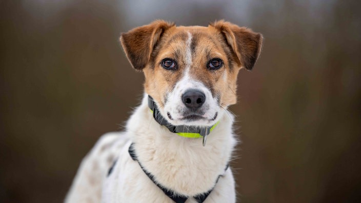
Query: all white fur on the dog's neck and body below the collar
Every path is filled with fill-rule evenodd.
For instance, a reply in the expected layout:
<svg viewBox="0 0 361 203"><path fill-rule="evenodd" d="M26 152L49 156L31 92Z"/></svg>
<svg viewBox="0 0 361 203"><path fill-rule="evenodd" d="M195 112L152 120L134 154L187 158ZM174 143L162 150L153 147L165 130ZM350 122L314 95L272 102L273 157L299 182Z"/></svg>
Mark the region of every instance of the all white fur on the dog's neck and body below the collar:
<svg viewBox="0 0 361 203"><path fill-rule="evenodd" d="M148 108L147 97L145 94L141 106L128 120L125 133L104 135L83 160L66 202L173 202L131 159L128 153L131 143L134 143L138 160L163 186L194 196L213 188L218 175L223 174L205 203L235 202L231 169L224 171L236 144L231 114L219 115L220 122L203 147L202 138L181 137L156 123ZM109 145L109 142L113 144ZM109 145L107 150L100 152L106 145ZM106 177L111 166L107 157L115 154L117 163L111 175ZM92 170L94 163L102 166L95 172ZM89 187L89 178L93 176L99 178L94 189ZM97 192L100 187L101 194ZM188 198L186 202L195 200Z"/></svg>

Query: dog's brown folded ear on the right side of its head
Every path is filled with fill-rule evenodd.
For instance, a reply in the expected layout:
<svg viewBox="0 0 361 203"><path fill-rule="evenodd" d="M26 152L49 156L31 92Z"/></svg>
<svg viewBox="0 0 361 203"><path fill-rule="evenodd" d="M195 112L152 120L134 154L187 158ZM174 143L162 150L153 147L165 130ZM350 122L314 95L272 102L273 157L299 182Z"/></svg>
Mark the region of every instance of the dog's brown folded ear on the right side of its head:
<svg viewBox="0 0 361 203"><path fill-rule="evenodd" d="M210 26L222 32L228 45L237 56L238 63L247 70L252 70L262 47L262 34L225 21L216 21Z"/></svg>

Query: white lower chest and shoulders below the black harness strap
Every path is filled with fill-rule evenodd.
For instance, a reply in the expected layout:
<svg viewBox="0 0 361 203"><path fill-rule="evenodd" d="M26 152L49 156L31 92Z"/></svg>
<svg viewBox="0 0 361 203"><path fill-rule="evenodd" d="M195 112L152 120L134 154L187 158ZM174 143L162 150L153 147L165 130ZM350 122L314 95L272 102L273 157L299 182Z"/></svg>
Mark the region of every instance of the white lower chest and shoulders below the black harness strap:
<svg viewBox="0 0 361 203"><path fill-rule="evenodd" d="M125 152L126 150L124 150ZM142 171L139 165L131 158L119 158L119 165L107 178L103 188L104 203L118 202L165 202L174 203L166 196L150 178ZM125 164L127 163L127 164ZM210 193L205 203L209 202L235 202L234 181L230 171L220 177L214 190ZM185 203L197 203L189 197Z"/></svg>

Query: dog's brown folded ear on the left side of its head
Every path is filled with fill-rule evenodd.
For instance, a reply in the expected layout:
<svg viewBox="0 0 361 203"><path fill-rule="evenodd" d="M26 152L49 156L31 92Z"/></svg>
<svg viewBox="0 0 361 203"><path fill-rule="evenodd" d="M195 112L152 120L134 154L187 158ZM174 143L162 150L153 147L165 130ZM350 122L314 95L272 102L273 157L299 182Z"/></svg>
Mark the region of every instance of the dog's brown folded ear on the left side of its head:
<svg viewBox="0 0 361 203"><path fill-rule="evenodd" d="M142 70L149 62L154 46L162 33L175 26L174 23L154 21L149 25L137 27L127 33L122 33L121 43L130 64L136 70Z"/></svg>

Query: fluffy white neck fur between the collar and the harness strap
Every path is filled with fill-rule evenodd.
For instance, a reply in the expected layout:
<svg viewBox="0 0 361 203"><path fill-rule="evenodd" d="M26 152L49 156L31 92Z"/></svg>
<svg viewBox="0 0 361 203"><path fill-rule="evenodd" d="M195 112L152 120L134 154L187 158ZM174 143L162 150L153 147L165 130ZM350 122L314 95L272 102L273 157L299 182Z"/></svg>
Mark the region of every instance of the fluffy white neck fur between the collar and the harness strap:
<svg viewBox="0 0 361 203"><path fill-rule="evenodd" d="M148 95L136 108L127 123L140 163L163 186L178 193L194 196L214 187L216 178L224 173L236 140L232 132L233 116L220 112L222 120L202 138L186 138L159 125L148 107Z"/></svg>

